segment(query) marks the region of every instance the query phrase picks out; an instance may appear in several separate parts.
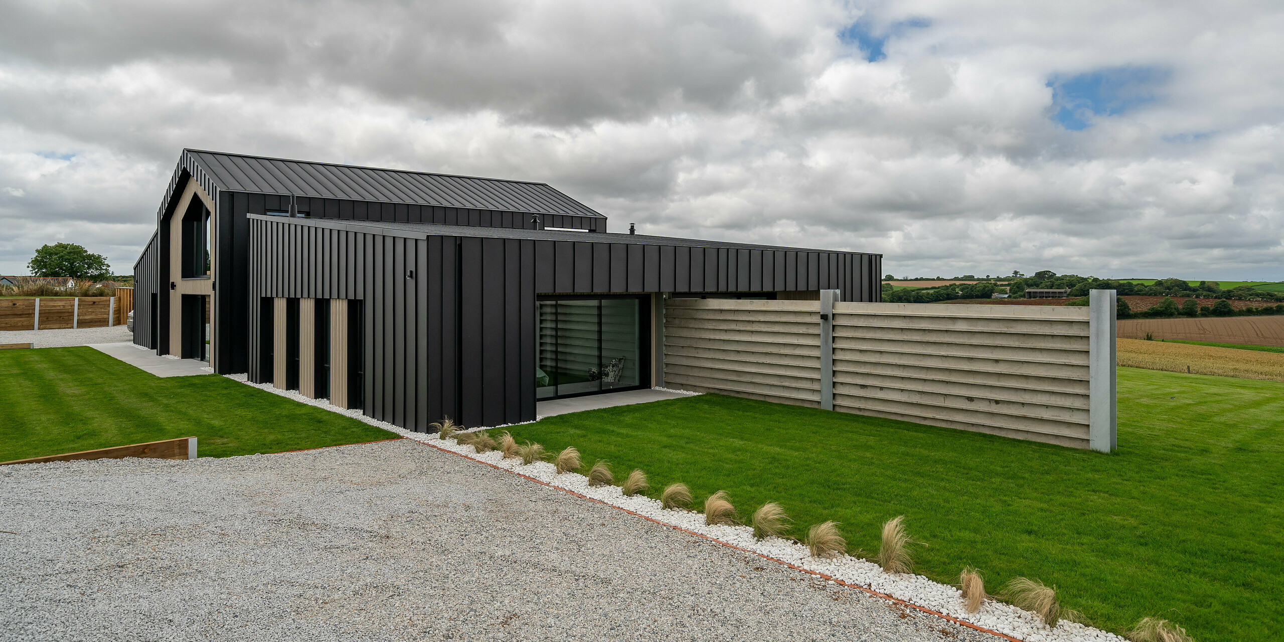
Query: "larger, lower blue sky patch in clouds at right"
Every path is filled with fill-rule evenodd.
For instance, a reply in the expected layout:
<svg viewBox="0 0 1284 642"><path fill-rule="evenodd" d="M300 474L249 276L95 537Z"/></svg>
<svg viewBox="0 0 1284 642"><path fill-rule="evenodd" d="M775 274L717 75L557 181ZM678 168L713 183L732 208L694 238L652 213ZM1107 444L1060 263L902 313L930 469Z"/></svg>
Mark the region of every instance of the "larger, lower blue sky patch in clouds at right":
<svg viewBox="0 0 1284 642"><path fill-rule="evenodd" d="M1170 72L1158 67L1113 67L1048 78L1052 87L1052 118L1062 127L1080 131L1094 117L1118 116L1156 99Z"/></svg>

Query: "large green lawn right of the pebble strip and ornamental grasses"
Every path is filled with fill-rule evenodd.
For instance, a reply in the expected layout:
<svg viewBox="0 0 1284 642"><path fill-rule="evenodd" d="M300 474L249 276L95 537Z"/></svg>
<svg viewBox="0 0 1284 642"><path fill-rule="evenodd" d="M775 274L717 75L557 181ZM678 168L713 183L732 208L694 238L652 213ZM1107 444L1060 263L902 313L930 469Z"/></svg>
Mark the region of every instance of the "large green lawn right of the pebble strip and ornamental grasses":
<svg viewBox="0 0 1284 642"><path fill-rule="evenodd" d="M512 426L652 496L686 482L697 506L725 489L742 515L779 501L794 534L827 519L853 551L907 515L919 573L963 565L1013 577L1121 632L1143 616L1199 641L1280 634L1284 384L1120 369L1120 449L1077 451L750 399L702 395Z"/></svg>

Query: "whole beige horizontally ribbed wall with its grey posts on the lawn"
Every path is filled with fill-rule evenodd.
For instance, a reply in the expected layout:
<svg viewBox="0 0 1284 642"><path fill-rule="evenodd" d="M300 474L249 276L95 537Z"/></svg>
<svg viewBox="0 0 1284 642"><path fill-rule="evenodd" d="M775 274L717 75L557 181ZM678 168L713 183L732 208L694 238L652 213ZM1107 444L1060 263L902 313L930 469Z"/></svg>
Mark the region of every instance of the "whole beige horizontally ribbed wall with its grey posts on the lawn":
<svg viewBox="0 0 1284 642"><path fill-rule="evenodd" d="M1089 307L668 299L666 386L1111 452L1115 293Z"/></svg>

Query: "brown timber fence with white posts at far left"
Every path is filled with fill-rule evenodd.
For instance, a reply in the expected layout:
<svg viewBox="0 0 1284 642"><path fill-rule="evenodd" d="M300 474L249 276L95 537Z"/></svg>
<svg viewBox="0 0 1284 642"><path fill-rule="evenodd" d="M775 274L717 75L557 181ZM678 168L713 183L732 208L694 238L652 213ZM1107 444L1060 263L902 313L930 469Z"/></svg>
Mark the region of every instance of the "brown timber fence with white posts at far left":
<svg viewBox="0 0 1284 642"><path fill-rule="evenodd" d="M122 325L134 309L134 290L116 297L41 297L0 299L0 330L63 330Z"/></svg>

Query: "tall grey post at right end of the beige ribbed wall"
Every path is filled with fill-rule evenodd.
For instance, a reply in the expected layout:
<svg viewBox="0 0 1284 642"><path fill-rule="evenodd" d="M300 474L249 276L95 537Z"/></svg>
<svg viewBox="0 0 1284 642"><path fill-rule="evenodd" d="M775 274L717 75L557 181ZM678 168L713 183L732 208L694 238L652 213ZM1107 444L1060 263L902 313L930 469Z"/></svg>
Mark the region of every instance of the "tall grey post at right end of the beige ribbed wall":
<svg viewBox="0 0 1284 642"><path fill-rule="evenodd" d="M1088 313L1088 440L1089 448L1112 452L1116 439L1115 290L1090 290Z"/></svg>

